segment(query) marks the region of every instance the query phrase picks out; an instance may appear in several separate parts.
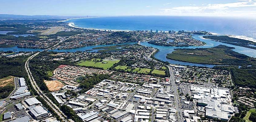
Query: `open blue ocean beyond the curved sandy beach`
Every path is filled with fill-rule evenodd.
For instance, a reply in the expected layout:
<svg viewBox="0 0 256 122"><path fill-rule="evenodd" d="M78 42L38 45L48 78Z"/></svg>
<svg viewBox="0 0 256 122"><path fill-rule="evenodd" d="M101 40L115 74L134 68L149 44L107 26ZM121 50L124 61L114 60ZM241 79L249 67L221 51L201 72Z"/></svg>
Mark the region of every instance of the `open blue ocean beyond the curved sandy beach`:
<svg viewBox="0 0 256 122"><path fill-rule="evenodd" d="M106 30L206 30L256 41L256 20L195 16L117 16L68 20L75 26Z"/></svg>

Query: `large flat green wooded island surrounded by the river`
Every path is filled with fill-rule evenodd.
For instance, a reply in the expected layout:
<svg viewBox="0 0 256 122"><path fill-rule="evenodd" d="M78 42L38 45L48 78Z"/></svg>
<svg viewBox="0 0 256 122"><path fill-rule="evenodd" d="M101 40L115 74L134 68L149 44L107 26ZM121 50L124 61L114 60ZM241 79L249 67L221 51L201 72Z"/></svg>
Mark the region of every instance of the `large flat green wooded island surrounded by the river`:
<svg viewBox="0 0 256 122"><path fill-rule="evenodd" d="M175 49L166 58L202 64L254 65L255 59L233 51L233 47L218 45L212 48Z"/></svg>

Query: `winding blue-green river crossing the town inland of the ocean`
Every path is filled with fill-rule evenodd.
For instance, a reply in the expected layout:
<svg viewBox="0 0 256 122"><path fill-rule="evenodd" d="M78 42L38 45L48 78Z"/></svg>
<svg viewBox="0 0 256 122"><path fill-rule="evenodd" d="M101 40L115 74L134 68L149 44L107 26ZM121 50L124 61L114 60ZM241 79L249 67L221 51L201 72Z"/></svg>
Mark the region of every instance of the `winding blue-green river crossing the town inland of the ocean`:
<svg viewBox="0 0 256 122"><path fill-rule="evenodd" d="M250 56L250 57L256 57L256 50L255 49L250 49L250 48L230 45L230 44L226 44L226 43L221 43L219 41L212 41L210 39L204 39L203 35L194 35L193 38L197 39L197 40L200 40L200 41L204 41L206 43L206 45L204 45L204 46L189 46L189 47L167 47L167 46L153 45L153 44L149 44L147 42L140 42L140 44L144 45L144 46L158 48L159 52L157 52L155 54L155 58L160 59L162 61L167 61L167 62L169 62L171 64L180 64L180 65L189 65L189 66L206 66L206 67L216 66L216 65L210 65L210 64L188 63L188 62L182 62L182 61L176 61L176 60L167 59L166 55L168 53L173 52L175 48L210 48L210 47L215 47L215 46L218 46L218 45L226 45L226 46L229 46L229 47L234 47L235 49L233 49L233 51L235 51L235 52L239 52L239 53L245 54L245 55ZM137 42L123 43L123 44L135 44L135 43L137 43ZM50 50L50 51L56 51L56 52L76 52L76 51L90 50L90 49L95 48L95 47L113 46L113 45L117 45L117 44L85 46L85 47L76 48L76 49L60 49L60 50L54 49L54 50ZM90 52L97 52L98 50L99 49L93 49ZM25 52L28 52L28 51L42 51L42 49L18 48L16 46L16 47L10 47L10 48L0 48L0 51L15 51L15 52L25 51Z"/></svg>

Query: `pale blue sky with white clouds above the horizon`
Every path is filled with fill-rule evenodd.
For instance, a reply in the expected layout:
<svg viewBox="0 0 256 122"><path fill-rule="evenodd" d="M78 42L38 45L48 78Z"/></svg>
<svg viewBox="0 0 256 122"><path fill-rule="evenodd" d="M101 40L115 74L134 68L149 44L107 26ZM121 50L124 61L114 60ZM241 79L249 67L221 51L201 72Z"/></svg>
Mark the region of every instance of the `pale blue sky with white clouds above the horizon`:
<svg viewBox="0 0 256 122"><path fill-rule="evenodd" d="M256 0L0 0L0 14L256 16Z"/></svg>

